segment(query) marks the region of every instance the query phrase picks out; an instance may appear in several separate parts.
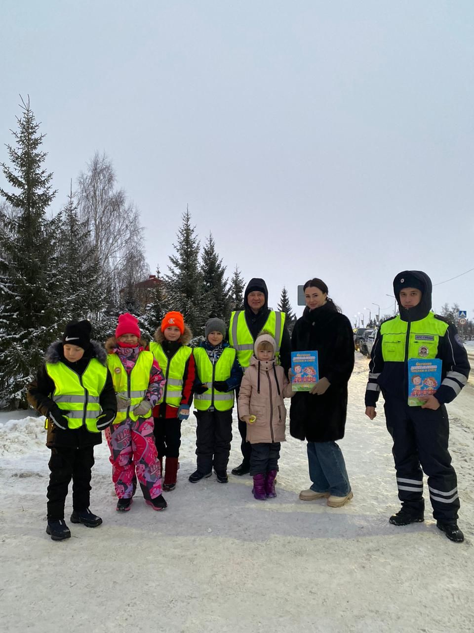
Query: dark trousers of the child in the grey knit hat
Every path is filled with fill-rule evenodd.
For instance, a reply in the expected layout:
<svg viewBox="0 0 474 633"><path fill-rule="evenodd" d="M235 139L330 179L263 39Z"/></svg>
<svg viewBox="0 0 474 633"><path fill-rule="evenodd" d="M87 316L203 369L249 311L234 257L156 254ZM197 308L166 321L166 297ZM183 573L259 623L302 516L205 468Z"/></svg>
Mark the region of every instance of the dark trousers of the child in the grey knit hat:
<svg viewBox="0 0 474 633"><path fill-rule="evenodd" d="M226 470L232 441L232 409L230 411L195 411L197 470L210 473Z"/></svg>

